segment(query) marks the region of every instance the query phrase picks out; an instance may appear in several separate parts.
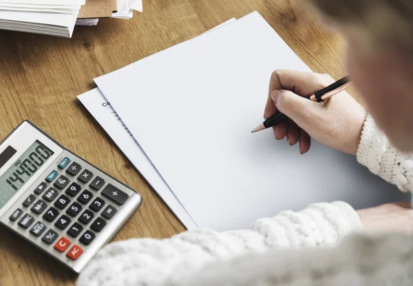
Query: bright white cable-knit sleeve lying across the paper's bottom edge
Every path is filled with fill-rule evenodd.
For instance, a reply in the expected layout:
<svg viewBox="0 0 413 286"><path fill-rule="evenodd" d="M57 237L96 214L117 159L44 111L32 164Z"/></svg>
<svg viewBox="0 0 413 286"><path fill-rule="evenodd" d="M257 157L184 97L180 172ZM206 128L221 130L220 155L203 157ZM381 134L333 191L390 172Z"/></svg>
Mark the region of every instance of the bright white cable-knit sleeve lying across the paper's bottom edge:
<svg viewBox="0 0 413 286"><path fill-rule="evenodd" d="M357 213L343 202L317 203L300 212L280 212L229 232L191 230L171 239L131 239L111 243L88 263L77 285L170 285L208 263L275 248L335 245L361 229ZM195 283L193 285L197 285Z"/></svg>

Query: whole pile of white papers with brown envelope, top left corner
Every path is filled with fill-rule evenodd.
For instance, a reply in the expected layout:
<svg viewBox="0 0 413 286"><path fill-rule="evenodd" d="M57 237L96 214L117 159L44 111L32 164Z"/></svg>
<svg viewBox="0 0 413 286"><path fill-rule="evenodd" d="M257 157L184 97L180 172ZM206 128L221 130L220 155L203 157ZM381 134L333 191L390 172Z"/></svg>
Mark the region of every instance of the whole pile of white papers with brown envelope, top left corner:
<svg viewBox="0 0 413 286"><path fill-rule="evenodd" d="M0 29L70 38L74 25L131 19L142 0L0 0Z"/></svg>

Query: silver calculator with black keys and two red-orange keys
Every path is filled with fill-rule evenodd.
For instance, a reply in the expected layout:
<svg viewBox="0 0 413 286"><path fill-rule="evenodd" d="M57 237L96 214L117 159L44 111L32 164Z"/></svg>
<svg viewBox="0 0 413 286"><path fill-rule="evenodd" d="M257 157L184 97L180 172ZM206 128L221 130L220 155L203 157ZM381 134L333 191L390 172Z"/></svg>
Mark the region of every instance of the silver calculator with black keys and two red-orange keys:
<svg viewBox="0 0 413 286"><path fill-rule="evenodd" d="M28 120L0 143L0 222L76 273L141 201Z"/></svg>

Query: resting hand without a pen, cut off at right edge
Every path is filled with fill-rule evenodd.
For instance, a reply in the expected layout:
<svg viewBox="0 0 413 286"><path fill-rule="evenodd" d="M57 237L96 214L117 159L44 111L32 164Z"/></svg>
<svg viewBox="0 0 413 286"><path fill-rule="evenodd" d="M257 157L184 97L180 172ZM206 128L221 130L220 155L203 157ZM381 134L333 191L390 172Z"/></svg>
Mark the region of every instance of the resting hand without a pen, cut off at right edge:
<svg viewBox="0 0 413 286"><path fill-rule="evenodd" d="M412 203L386 203L374 208L357 210L363 228L372 231L390 231L411 234L413 230Z"/></svg>

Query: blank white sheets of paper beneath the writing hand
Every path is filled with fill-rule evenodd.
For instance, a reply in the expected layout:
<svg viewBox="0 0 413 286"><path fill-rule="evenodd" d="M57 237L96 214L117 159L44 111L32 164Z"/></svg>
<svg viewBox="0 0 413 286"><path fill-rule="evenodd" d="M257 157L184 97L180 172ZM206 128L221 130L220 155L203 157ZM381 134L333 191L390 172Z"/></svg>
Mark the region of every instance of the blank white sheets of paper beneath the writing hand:
<svg viewBox="0 0 413 286"><path fill-rule="evenodd" d="M252 134L274 69L310 71L254 12L96 78L79 98L187 228L244 228L319 201L408 199L354 156L317 142L299 155L271 131Z"/></svg>

